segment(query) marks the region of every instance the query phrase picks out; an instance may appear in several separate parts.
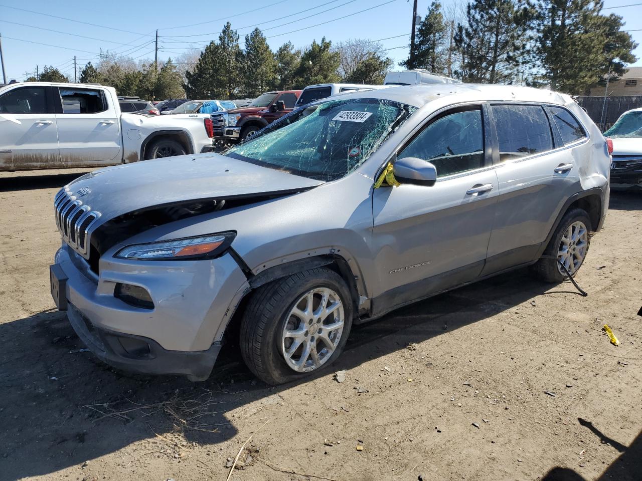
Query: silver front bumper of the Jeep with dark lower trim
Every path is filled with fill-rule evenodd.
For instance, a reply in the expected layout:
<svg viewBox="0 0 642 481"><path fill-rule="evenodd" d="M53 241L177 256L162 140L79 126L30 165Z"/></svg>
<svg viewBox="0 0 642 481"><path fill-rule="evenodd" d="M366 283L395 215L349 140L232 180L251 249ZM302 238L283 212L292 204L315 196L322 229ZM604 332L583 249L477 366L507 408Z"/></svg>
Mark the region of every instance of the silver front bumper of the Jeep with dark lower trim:
<svg viewBox="0 0 642 481"><path fill-rule="evenodd" d="M52 270L65 278L58 298L64 291L67 317L96 356L127 371L192 380L209 376L225 323L247 284L229 254L213 260L142 263L107 256L96 276L64 244L55 265ZM146 289L153 308L116 298L116 283Z"/></svg>

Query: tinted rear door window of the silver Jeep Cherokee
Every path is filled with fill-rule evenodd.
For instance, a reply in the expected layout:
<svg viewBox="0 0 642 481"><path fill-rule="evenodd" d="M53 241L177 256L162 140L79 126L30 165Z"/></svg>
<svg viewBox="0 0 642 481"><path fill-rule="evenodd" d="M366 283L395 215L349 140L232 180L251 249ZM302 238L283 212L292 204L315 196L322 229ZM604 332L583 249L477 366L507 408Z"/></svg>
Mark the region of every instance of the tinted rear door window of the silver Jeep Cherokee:
<svg viewBox="0 0 642 481"><path fill-rule="evenodd" d="M493 105L492 115L500 162L553 148L551 126L541 105Z"/></svg>

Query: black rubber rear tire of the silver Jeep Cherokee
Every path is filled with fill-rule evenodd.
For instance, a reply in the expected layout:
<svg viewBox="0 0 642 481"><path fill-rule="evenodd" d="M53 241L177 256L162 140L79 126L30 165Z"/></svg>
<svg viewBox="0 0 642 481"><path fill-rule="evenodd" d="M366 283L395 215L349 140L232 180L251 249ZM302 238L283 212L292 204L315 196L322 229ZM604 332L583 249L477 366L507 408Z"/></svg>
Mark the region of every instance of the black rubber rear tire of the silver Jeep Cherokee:
<svg viewBox="0 0 642 481"><path fill-rule="evenodd" d="M571 228L571 226L575 225L575 228L577 228L577 226L581 224L584 224L584 229L586 230L586 241L584 241L583 243L578 242L578 244L575 245L575 251L578 252L577 256L580 257L580 249L583 249L583 255L581 255L581 258L577 259L577 264L574 256L573 260L571 261L573 262L573 264L569 264L568 266L571 275L575 277L575 274L577 274L577 271L580 269L580 267L582 267L582 264L586 259L586 254L589 250L589 244L591 243L591 219L589 218L589 215L586 213L586 211L580 208L573 208L566 212L566 214L564 214L564 217L562 217L562 220L557 226L557 229L555 229L555 232L553 233L553 237L551 237L550 242L548 242L548 246L546 246L542 257L533 266L533 270L539 278L546 282L555 283L560 283L568 279L568 275L564 271L562 271L558 262L559 253L565 251L566 246L566 242L562 244L562 237L564 237L565 233L569 230L569 228ZM581 230L579 232L581 232ZM568 258L570 257L562 258L568 260Z"/></svg>

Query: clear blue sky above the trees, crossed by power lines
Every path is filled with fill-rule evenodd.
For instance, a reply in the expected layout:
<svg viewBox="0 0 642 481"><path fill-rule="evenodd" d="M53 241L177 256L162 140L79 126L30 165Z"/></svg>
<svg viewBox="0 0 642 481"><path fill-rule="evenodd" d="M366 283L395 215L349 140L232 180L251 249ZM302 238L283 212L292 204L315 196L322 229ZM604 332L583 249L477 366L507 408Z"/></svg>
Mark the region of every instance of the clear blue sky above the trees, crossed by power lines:
<svg viewBox="0 0 642 481"><path fill-rule="evenodd" d="M452 1L456 0L444 0L443 3L447 5ZM190 45L202 46L217 38L226 21L238 30L241 40L254 26L258 26L265 31L273 50L288 40L300 47L325 35L333 42L348 38L386 38L380 43L385 49L390 49L386 55L395 60L395 64L408 56L412 1L246 0L220 2L221 6L216 6L216 3L219 2L0 0L0 33L7 77L24 80L26 74L35 71L36 65L42 68L47 64L59 67L73 78L74 55L80 73L80 67L87 61L98 60L101 49L137 59L153 59L156 29L159 29L160 38L159 60L164 60L180 54L183 51L180 49ZM420 15L424 15L429 3L430 0L419 1ZM631 3L639 3L639 0L605 0L605 7ZM362 12L366 9L370 10ZM605 11L609 12L622 15L627 30L642 29L642 15L639 14L642 6ZM338 19L345 15L349 16ZM322 22L327 23L315 26ZM632 35L642 44L642 30L634 31ZM642 47L638 47L636 55L642 58ZM642 60L635 65L642 65Z"/></svg>

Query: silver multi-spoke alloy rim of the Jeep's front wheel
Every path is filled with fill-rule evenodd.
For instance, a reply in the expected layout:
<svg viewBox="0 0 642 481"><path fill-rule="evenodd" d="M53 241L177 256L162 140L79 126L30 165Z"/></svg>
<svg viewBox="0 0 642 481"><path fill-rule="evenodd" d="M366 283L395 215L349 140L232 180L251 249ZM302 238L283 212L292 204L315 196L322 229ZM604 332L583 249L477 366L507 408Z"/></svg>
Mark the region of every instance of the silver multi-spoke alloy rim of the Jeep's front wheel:
<svg viewBox="0 0 642 481"><path fill-rule="evenodd" d="M332 357L345 321L339 295L318 287L300 296L291 308L281 335L281 352L299 373L314 371Z"/></svg>

